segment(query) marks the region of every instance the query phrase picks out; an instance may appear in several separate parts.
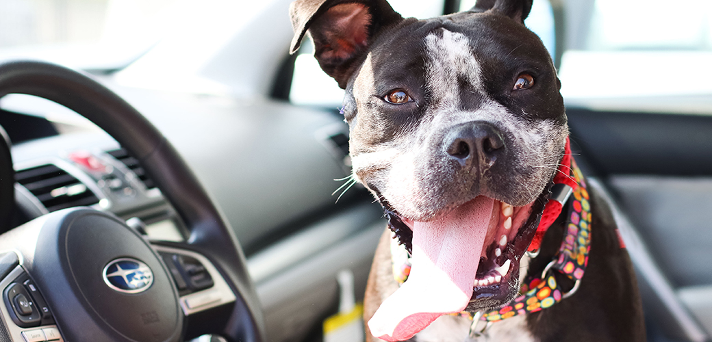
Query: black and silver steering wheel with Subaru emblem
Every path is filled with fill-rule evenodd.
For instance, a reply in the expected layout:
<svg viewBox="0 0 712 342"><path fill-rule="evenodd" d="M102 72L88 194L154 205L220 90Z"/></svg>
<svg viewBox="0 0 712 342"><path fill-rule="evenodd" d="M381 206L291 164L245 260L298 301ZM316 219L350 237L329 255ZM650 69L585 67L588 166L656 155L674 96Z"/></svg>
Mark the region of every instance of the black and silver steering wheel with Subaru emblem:
<svg viewBox="0 0 712 342"><path fill-rule="evenodd" d="M0 309L19 326L9 324L14 341L36 330L26 323L36 314L43 325L56 323L66 341L182 341L201 333L263 341L261 308L233 230L147 119L87 75L49 63L0 64L0 97L10 93L57 102L104 129L139 159L190 232L187 242L149 244L115 215L68 208L0 235L0 250L13 251L0 255ZM189 273L208 272L212 286L184 294L173 277L184 269L171 260ZM35 303L22 301L28 293Z"/></svg>

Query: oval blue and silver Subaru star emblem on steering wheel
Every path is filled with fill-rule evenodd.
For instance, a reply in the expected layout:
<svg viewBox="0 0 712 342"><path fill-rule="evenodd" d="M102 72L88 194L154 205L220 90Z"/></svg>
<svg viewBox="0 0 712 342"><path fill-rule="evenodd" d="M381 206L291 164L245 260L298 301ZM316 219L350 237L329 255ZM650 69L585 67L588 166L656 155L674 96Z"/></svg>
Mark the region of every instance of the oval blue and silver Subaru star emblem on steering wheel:
<svg viewBox="0 0 712 342"><path fill-rule="evenodd" d="M112 289L127 294L146 291L153 284L153 272L143 262L128 257L112 260L103 272L104 282Z"/></svg>

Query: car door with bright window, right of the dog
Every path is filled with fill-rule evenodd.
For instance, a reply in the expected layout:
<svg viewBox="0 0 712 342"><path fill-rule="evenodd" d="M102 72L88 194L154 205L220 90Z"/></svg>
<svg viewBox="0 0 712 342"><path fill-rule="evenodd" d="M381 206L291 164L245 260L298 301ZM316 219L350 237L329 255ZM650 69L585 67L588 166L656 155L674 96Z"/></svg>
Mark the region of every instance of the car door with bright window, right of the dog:
<svg viewBox="0 0 712 342"><path fill-rule="evenodd" d="M712 332L711 4L683 2L555 4L576 158L617 211L649 341Z"/></svg>

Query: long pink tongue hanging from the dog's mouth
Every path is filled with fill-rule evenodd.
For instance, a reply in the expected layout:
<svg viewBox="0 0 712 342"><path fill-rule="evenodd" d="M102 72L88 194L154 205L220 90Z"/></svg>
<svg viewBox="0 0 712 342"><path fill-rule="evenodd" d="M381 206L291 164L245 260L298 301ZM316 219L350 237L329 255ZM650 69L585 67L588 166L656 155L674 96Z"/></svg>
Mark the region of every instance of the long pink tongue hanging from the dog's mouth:
<svg viewBox="0 0 712 342"><path fill-rule="evenodd" d="M404 341L472 296L494 200L483 196L431 222L415 222L408 281L368 321L373 336Z"/></svg>

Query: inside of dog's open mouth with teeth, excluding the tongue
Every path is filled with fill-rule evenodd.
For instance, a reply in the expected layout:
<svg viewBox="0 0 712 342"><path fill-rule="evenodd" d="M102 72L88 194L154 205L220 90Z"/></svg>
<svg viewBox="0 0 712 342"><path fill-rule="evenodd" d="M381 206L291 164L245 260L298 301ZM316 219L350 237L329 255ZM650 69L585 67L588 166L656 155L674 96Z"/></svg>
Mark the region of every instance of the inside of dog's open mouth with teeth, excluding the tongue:
<svg viewBox="0 0 712 342"><path fill-rule="evenodd" d="M523 206L515 207L494 200L466 311L498 309L518 296L520 260L537 229L550 194L549 188L550 185L546 186L535 201ZM382 204L389 219L389 228L399 242L412 252L414 221L398 215L387 203Z"/></svg>

